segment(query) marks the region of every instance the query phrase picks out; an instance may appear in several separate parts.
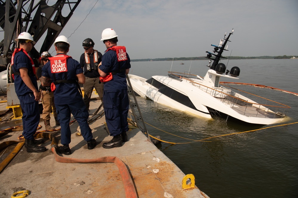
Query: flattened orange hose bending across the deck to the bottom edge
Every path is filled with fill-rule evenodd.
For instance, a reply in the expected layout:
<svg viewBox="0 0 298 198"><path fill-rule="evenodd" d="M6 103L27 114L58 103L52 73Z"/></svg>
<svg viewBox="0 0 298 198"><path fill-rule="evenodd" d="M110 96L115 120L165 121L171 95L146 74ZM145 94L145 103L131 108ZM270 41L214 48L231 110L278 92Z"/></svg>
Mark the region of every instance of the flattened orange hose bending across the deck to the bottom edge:
<svg viewBox="0 0 298 198"><path fill-rule="evenodd" d="M125 190L125 196L127 198L137 198L137 192L135 191L135 186L132 182L132 178L126 168L126 165L118 157L102 157L96 159L75 159L75 158L65 158L57 154L55 146L52 147L52 152L54 153L55 160L61 163L115 163L118 167L123 185Z"/></svg>

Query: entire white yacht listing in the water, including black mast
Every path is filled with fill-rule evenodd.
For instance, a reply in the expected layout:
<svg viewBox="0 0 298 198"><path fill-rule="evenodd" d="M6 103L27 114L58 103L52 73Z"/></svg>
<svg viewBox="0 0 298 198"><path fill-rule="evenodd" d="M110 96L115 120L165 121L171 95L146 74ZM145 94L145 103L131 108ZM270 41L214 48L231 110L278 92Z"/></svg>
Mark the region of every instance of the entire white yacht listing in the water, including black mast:
<svg viewBox="0 0 298 198"><path fill-rule="evenodd" d="M154 102L209 119L214 116L222 116L227 120L233 117L246 123L264 125L285 121L285 113L291 107L220 85L220 77L238 79L240 74L240 68L232 67L229 71L225 64L220 63L220 59L225 58L222 56L223 51L228 51L225 46L233 32L234 29L228 37L225 34L218 46L211 45L214 46L213 53L207 51L209 70L204 77L171 71L168 76L152 76L150 79L129 74L133 90ZM249 96L258 101L249 99Z"/></svg>

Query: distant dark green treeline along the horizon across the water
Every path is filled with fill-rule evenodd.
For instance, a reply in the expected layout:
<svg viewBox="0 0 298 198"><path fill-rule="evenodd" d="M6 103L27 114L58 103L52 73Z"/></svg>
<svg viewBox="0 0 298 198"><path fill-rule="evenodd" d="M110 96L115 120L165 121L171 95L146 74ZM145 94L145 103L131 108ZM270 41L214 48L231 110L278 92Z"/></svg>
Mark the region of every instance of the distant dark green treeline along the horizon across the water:
<svg viewBox="0 0 298 198"><path fill-rule="evenodd" d="M231 56L230 60L237 60L237 59L290 59L293 57L298 57L298 56L287 56L287 55L283 55L283 56L248 56L248 57L244 57L244 56ZM132 59L132 62L137 62L137 61L165 61L165 60L169 60L172 61L173 58L146 58L146 59ZM200 56L200 57L180 57L180 58L174 58L174 60L208 60L208 58L204 57L204 56ZM224 60L224 59L223 59Z"/></svg>

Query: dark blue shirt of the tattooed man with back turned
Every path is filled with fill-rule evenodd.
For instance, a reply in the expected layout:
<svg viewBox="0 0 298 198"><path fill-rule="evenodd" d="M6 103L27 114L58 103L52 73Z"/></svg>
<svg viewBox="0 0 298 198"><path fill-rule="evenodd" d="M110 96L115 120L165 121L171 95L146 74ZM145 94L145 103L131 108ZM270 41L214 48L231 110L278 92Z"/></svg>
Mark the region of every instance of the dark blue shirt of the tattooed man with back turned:
<svg viewBox="0 0 298 198"><path fill-rule="evenodd" d="M57 54L59 55L59 54ZM64 80L65 73L67 74L67 80L77 80L77 74L83 73L80 63L72 58L68 58L66 61L67 72L55 73L56 80ZM43 66L42 76L52 79L54 82L53 74L51 73L50 61ZM54 91L55 104L66 105L77 102L82 99L81 93L78 90L78 86L75 83L58 83L56 90Z"/></svg>

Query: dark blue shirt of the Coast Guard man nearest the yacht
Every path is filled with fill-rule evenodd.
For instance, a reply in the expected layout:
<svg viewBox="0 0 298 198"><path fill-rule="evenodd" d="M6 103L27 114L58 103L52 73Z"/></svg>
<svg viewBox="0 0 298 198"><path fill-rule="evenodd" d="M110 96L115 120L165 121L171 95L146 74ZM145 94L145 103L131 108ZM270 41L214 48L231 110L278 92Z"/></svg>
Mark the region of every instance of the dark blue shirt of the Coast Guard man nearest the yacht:
<svg viewBox="0 0 298 198"><path fill-rule="evenodd" d="M117 89L127 89L126 84L126 74L125 70L131 68L130 58L126 53L127 60L119 61L117 60L117 54L113 50L109 50L104 53L101 60L101 66L99 69L104 73L110 73L113 71L124 70L117 74L113 74L113 79L104 83L104 90L117 90Z"/></svg>

